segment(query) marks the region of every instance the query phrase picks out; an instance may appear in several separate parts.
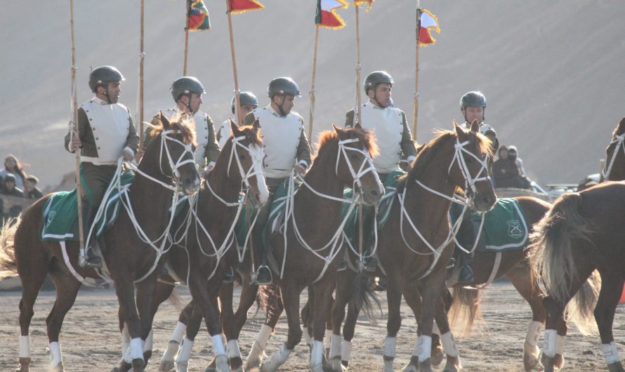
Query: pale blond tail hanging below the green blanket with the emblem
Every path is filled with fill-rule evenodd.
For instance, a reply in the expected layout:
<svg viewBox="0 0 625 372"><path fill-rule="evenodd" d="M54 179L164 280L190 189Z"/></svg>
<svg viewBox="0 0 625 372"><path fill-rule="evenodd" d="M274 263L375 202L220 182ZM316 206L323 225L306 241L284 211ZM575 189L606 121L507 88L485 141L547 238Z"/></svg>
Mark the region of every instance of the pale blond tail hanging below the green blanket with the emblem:
<svg viewBox="0 0 625 372"><path fill-rule="evenodd" d="M482 321L482 291L454 287L452 292L449 323L454 330L454 335L468 337L475 324Z"/></svg>

